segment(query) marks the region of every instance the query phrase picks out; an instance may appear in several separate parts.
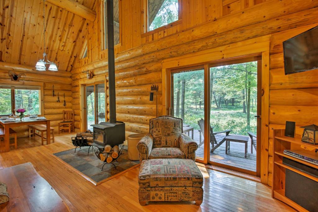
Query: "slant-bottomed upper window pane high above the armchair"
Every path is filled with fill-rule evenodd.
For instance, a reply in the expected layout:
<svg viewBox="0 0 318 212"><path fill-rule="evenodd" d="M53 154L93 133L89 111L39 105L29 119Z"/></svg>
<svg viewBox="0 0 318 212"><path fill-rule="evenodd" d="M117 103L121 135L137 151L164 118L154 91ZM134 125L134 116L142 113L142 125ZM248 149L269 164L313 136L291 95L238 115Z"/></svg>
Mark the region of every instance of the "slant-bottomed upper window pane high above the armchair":
<svg viewBox="0 0 318 212"><path fill-rule="evenodd" d="M148 31L179 19L178 0L148 0Z"/></svg>

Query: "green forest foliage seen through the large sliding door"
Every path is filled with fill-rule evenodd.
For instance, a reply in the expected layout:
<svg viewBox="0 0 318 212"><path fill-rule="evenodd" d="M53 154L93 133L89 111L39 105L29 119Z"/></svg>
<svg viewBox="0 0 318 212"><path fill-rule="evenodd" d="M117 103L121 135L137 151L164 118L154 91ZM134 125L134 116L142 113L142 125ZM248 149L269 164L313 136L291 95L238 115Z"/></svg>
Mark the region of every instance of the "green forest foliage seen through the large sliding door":
<svg viewBox="0 0 318 212"><path fill-rule="evenodd" d="M231 129L233 134L256 133L257 62L211 67L210 73L213 131ZM182 81L185 82L184 123L199 129L197 121L204 118L204 70L173 74L174 114L179 114L179 118L182 118ZM178 95L179 113L176 111Z"/></svg>

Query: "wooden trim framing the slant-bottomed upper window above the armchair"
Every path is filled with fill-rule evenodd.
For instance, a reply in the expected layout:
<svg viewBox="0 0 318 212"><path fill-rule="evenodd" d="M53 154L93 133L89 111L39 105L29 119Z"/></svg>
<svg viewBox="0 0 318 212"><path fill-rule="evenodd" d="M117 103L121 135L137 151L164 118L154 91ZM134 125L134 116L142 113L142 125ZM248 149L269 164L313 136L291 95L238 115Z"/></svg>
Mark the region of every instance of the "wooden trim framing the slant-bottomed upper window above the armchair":
<svg viewBox="0 0 318 212"><path fill-rule="evenodd" d="M171 22L169 24L163 25L159 28L156 28L154 30L148 31L148 26L149 26L149 19L148 19L148 0L143 0L142 1L142 38L149 36L153 33L156 33L158 31L162 31L165 29L169 29L173 26L176 26L178 24L181 24L182 22L182 0L178 0L178 20Z"/></svg>

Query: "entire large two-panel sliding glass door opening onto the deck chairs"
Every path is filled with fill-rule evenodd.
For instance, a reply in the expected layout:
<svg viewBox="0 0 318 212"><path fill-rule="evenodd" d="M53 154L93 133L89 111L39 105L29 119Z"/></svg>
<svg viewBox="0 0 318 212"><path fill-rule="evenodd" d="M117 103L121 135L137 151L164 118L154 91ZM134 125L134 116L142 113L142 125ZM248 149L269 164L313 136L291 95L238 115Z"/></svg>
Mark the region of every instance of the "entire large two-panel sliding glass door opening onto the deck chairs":
<svg viewBox="0 0 318 212"><path fill-rule="evenodd" d="M199 161L259 176L261 60L169 70L169 114L198 144Z"/></svg>

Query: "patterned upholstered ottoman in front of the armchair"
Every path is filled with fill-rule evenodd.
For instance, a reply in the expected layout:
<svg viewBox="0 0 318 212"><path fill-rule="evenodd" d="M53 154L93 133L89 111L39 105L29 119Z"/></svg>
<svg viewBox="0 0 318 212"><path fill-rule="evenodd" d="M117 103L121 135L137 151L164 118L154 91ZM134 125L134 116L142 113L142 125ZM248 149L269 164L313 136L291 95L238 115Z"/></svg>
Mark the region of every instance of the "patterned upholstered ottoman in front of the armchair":
<svg viewBox="0 0 318 212"><path fill-rule="evenodd" d="M203 201L203 176L190 159L144 160L138 177L139 203L147 201Z"/></svg>

